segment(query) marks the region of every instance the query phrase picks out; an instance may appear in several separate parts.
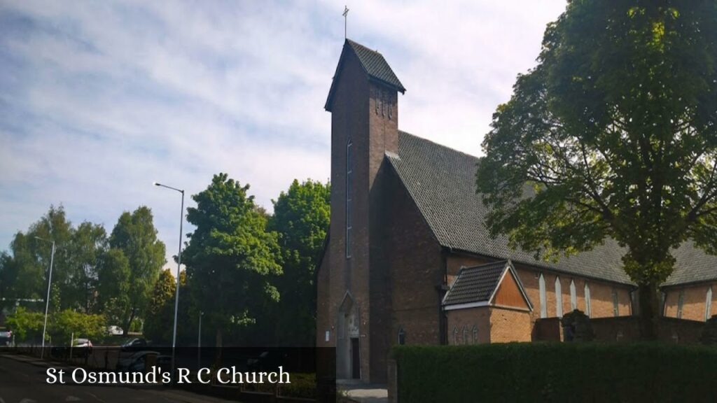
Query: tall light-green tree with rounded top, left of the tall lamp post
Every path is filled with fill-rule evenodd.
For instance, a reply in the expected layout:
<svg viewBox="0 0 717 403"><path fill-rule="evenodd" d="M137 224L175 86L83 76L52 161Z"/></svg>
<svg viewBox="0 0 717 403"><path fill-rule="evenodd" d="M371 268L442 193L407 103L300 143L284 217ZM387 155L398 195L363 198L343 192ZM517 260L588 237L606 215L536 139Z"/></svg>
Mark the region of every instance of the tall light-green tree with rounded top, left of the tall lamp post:
<svg viewBox="0 0 717 403"><path fill-rule="evenodd" d="M164 243L157 239L152 212L138 207L133 213L123 212L110 234L110 247L121 250L129 262L128 307L123 315L123 330L145 310L150 293L165 260Z"/></svg>

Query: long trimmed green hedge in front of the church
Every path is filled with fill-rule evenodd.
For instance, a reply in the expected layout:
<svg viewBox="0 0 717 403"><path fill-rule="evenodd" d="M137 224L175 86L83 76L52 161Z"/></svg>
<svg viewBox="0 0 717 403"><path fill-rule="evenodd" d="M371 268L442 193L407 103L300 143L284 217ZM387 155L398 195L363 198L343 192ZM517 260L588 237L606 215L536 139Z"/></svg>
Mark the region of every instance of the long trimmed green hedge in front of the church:
<svg viewBox="0 0 717 403"><path fill-rule="evenodd" d="M399 403L717 402L717 349L660 343L397 346Z"/></svg>

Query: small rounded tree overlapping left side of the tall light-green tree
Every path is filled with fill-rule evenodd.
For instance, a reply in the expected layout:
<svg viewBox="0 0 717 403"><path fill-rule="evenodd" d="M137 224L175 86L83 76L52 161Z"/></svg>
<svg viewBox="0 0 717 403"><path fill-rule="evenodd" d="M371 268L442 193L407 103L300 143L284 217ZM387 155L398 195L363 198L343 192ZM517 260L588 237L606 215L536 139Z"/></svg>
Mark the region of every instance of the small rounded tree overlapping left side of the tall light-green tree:
<svg viewBox="0 0 717 403"><path fill-rule="evenodd" d="M131 275L130 262L122 250L111 248L100 256L98 310L112 325L125 323L125 313L130 308Z"/></svg>

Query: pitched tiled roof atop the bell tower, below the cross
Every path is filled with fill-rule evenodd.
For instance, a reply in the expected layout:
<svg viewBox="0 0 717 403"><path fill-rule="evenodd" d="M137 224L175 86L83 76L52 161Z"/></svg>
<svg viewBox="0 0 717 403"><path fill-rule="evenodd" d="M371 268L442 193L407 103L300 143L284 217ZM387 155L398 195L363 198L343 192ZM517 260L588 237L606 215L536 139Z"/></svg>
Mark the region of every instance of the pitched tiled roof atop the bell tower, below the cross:
<svg viewBox="0 0 717 403"><path fill-rule="evenodd" d="M336 91L336 81L338 76L341 74L341 67L343 67L344 58L346 52L351 51L356 54L359 59L361 68L366 72L366 76L369 80L379 82L387 87L393 88L400 93L405 93L406 88L401 84L401 80L396 76L394 70L391 70L391 66L386 62L384 56L376 50L371 50L362 44L353 42L351 39L346 39L343 43L343 50L341 51L341 57L338 59L338 65L336 66L336 72L333 75L333 81L331 82L331 89L328 90L328 98L326 98L326 105L324 109L331 110L331 99L333 93Z"/></svg>

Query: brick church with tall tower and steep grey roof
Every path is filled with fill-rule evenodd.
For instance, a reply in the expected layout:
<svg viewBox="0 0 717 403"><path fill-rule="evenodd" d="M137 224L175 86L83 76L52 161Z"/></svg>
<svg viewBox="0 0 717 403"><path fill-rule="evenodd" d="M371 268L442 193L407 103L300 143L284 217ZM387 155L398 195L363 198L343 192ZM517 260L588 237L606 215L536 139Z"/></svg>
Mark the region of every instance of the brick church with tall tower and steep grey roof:
<svg viewBox="0 0 717 403"><path fill-rule="evenodd" d="M317 346L339 379L386 380L391 346L531 341L540 318L575 308L630 316L636 286L606 242L559 262L511 250L485 228L479 158L399 130L405 88L384 57L346 40L331 112L331 226L317 273ZM717 313L717 257L686 244L663 314Z"/></svg>

